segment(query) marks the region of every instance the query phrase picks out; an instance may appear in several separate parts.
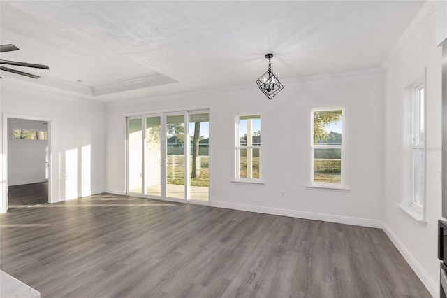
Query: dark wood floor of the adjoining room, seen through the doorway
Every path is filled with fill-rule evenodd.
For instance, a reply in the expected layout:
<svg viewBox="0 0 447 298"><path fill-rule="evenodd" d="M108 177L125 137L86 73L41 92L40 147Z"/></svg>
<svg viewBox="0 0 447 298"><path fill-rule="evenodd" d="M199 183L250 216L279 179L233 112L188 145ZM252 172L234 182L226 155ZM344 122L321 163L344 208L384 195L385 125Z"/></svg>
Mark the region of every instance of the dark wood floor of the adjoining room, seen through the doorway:
<svg viewBox="0 0 447 298"><path fill-rule="evenodd" d="M48 203L48 183L8 186L8 209Z"/></svg>

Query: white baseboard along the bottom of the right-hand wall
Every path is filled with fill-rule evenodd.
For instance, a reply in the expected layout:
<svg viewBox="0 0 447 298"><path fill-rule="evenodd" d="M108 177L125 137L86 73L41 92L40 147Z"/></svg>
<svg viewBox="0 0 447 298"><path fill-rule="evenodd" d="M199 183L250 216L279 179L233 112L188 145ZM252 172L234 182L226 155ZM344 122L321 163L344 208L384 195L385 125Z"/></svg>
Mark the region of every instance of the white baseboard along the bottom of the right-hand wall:
<svg viewBox="0 0 447 298"><path fill-rule="evenodd" d="M409 252L409 250L404 246L404 244L397 238L397 236L391 231L390 227L383 222L383 232L385 232L386 236L393 242L394 246L399 250L400 254L406 262L410 265L411 269L413 269L414 273L418 276L420 281L425 285L425 288L430 292L433 297L439 297L439 285L435 283L430 275L427 274L427 271L420 266L419 262L416 260L413 255Z"/></svg>

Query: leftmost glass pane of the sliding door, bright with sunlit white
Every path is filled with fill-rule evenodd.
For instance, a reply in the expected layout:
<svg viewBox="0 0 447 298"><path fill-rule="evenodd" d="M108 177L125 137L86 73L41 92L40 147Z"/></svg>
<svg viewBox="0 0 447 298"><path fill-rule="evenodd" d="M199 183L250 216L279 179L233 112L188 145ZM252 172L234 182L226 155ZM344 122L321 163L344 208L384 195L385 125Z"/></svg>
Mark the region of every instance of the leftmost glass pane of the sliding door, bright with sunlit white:
<svg viewBox="0 0 447 298"><path fill-rule="evenodd" d="M129 120L128 150L128 191L142 193L142 129L141 119Z"/></svg>

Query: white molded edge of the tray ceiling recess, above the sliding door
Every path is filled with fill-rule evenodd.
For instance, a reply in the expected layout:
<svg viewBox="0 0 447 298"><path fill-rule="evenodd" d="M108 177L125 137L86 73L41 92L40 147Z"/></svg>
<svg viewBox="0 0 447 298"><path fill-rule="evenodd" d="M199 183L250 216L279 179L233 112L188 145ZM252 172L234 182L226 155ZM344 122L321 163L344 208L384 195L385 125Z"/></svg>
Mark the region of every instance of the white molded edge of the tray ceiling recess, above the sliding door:
<svg viewBox="0 0 447 298"><path fill-rule="evenodd" d="M153 87L159 85L166 85L171 83L178 83L177 80L164 76L158 73L154 76L147 76L145 78L137 78L135 80L126 80L119 83L112 83L107 85L100 85L93 87L94 96L117 93L146 87Z"/></svg>

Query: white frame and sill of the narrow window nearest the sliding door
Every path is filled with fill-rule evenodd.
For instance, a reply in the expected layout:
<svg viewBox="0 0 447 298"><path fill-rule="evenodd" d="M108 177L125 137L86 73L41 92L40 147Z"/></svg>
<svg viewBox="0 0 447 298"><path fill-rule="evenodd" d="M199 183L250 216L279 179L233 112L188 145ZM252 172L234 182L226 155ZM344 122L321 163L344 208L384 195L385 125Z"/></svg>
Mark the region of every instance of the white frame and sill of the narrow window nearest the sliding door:
<svg viewBox="0 0 447 298"><path fill-rule="evenodd" d="M234 127L235 127L235 143L234 143L234 162L233 162L233 180L231 182L233 183L254 183L254 184L264 184L264 180L263 180L263 155L262 155L262 143L263 141L261 141L260 145L249 145L249 139L251 141L251 138L248 138L249 133L252 135L253 132L250 132L248 127L247 127L247 145L245 146L241 146L240 145L240 135L239 135L239 123L240 123L240 118L245 118L245 117L249 117L249 116L258 116L259 119L261 119L261 134L263 131L263 116L261 115L261 113L245 113L245 114L235 114L234 115ZM248 126L248 125L247 125ZM262 138L261 138L262 140ZM240 177L240 149L241 148L247 148L247 149L258 149L259 150L259 178L245 178L245 177ZM247 165L247 170L248 170L248 165Z"/></svg>

